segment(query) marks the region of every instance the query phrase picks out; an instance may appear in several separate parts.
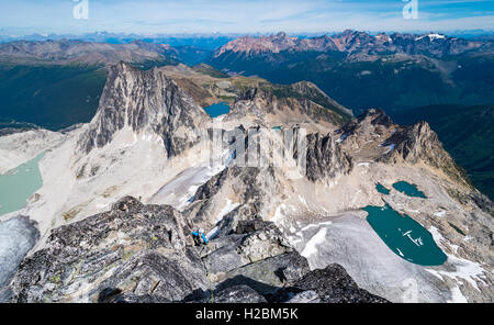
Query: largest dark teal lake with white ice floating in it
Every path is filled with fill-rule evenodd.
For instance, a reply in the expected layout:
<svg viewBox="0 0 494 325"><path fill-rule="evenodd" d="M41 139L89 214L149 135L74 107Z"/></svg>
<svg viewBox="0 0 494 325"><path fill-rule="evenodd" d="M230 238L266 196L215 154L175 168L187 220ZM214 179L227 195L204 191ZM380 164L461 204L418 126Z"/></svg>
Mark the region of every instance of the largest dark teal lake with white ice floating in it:
<svg viewBox="0 0 494 325"><path fill-rule="evenodd" d="M366 206L367 221L386 246L401 258L420 266L442 265L447 256L433 235L408 215L390 205Z"/></svg>

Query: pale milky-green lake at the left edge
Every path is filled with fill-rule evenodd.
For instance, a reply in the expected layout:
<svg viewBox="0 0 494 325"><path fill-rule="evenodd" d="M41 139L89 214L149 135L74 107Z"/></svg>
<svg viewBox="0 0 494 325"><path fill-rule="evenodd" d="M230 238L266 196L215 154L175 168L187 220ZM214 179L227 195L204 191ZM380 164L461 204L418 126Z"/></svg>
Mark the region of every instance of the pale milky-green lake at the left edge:
<svg viewBox="0 0 494 325"><path fill-rule="evenodd" d="M0 175L0 215L21 210L42 186L38 162L44 153Z"/></svg>

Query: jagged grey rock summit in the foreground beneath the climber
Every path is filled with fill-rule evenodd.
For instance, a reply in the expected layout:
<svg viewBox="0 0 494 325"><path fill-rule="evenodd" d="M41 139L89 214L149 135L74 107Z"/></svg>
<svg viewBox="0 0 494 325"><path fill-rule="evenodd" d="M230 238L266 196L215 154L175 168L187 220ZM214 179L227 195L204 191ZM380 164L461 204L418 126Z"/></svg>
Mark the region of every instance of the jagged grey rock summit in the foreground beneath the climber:
<svg viewBox="0 0 494 325"><path fill-rule="evenodd" d="M272 223L242 222L202 247L193 228L171 206L126 197L53 229L22 261L10 302L386 302L338 265L311 271Z"/></svg>

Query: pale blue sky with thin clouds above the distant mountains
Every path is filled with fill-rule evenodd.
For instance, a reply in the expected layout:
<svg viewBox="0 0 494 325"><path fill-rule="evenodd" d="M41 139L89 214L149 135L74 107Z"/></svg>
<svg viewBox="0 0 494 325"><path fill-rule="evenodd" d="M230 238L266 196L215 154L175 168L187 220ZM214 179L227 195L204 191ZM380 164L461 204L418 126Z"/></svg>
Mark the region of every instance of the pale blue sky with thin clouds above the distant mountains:
<svg viewBox="0 0 494 325"><path fill-rule="evenodd" d="M0 0L0 34L494 31L494 0L416 1L405 20L404 0L88 0L76 20L76 0Z"/></svg>

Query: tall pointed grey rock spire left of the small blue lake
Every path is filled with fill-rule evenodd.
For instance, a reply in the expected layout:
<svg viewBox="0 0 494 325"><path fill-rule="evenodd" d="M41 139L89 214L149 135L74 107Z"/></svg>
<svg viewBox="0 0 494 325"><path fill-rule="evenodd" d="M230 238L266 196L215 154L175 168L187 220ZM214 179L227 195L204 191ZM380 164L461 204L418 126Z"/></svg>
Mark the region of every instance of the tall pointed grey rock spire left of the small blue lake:
<svg viewBox="0 0 494 325"><path fill-rule="evenodd" d="M142 71L125 63L110 69L97 115L79 141L83 153L110 143L115 133L158 135L168 156L181 153L201 135L207 114L157 68Z"/></svg>

